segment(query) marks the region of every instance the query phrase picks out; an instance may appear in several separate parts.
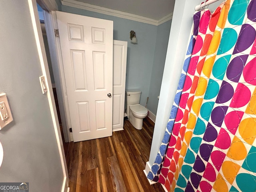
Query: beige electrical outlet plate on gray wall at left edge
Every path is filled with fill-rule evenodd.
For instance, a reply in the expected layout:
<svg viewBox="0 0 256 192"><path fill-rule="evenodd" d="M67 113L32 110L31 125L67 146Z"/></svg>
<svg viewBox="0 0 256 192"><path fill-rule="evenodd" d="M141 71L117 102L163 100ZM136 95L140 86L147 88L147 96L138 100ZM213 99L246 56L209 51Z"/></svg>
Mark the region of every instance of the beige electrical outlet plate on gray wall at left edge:
<svg viewBox="0 0 256 192"><path fill-rule="evenodd" d="M13 121L10 106L5 93L0 94L0 130Z"/></svg>

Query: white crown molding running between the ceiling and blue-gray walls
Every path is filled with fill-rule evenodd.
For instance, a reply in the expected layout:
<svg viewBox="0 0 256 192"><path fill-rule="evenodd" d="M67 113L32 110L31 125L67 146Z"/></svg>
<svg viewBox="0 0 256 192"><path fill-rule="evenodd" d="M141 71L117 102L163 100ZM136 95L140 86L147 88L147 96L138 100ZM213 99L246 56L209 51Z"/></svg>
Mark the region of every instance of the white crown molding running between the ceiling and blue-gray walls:
<svg viewBox="0 0 256 192"><path fill-rule="evenodd" d="M88 10L88 11L92 11L92 12L115 16L115 17L119 17L119 18L124 18L124 19L134 20L134 21L138 21L138 22L142 22L142 23L151 24L151 25L156 25L156 26L172 19L172 14L168 14L167 16L161 18L160 20L154 20L154 19L150 19L147 17L138 16L135 14L121 12L121 11L117 11L117 10L113 10L113 9L108 9L108 8L104 8L104 7L100 7L100 6L96 6L96 5L92 5L92 4L88 4L88 3L84 3L84 2L78 2L76 0L61 0L61 4L70 6L70 7L74 7L74 8L79 8L79 9L83 9L83 10Z"/></svg>

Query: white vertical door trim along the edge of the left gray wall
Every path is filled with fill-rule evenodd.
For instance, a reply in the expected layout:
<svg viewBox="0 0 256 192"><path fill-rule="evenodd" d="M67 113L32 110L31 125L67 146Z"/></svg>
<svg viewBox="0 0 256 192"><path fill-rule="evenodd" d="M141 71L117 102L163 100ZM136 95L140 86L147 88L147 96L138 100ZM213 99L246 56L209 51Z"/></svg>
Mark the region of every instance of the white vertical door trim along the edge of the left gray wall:
<svg viewBox="0 0 256 192"><path fill-rule="evenodd" d="M48 2L49 0L38 0L38 1ZM30 8L31 22L33 25L33 30L34 30L34 35L35 35L34 37L36 40L36 46L37 46L37 50L38 50L38 56L40 58L40 64L41 64L41 68L42 68L42 75L45 77L46 88L48 90L45 94L47 94L48 101L49 101L50 113L52 116L54 132L56 135L56 141L57 141L58 150L59 150L59 154L60 154L60 162L61 162L62 170L63 170L62 192L68 192L69 191L68 168L67 168L64 147L63 147L61 133L60 133L60 125L58 122L58 115L57 115L57 110L56 110L55 101L54 101L52 84L50 83L51 82L50 81L50 72L49 72L48 62L47 62L47 58L46 58L46 52L45 52L45 48L44 48L44 40L43 40L42 30L41 30L41 26L40 26L36 0L28 0L28 4L29 4L29 8Z"/></svg>

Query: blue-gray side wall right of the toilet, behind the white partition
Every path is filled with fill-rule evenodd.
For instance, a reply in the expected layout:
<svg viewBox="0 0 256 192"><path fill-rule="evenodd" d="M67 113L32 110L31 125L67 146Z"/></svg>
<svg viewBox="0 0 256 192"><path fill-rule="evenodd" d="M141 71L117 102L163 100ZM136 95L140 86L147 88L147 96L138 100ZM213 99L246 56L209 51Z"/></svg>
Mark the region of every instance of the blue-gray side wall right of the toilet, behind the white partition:
<svg viewBox="0 0 256 192"><path fill-rule="evenodd" d="M164 72L164 63L166 58L171 23L172 20L169 20L159 25L157 28L154 63L151 73L147 106L148 110L150 110L155 115L158 106L157 97L160 94L160 88L162 84L162 76Z"/></svg>

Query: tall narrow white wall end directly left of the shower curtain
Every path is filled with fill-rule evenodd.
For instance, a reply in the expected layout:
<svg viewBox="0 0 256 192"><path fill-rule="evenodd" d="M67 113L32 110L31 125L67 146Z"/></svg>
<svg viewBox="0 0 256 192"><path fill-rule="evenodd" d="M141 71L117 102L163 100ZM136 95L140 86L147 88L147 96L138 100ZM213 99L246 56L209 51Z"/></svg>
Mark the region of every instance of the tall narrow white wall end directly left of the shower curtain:
<svg viewBox="0 0 256 192"><path fill-rule="evenodd" d="M157 108L156 123L149 157L150 166L154 163L170 116L171 107L182 71L184 56L190 38L193 13L195 12L194 8L201 2L202 0L175 1ZM221 2L216 2L210 5L210 10L215 10L220 3Z"/></svg>

